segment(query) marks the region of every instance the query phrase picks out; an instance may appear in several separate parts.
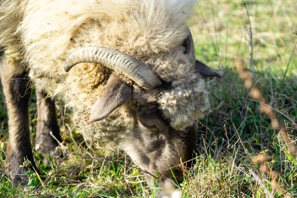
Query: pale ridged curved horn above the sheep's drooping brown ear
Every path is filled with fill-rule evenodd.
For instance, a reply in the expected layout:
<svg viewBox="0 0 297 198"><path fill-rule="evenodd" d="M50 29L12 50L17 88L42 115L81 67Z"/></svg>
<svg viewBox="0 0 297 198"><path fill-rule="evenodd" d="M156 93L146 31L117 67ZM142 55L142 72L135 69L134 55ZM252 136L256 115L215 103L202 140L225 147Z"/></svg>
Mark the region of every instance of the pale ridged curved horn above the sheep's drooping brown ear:
<svg viewBox="0 0 297 198"><path fill-rule="evenodd" d="M64 69L68 72L74 65L82 62L92 62L108 67L130 78L146 90L161 85L158 76L145 63L114 49L104 47L78 49L68 56Z"/></svg>

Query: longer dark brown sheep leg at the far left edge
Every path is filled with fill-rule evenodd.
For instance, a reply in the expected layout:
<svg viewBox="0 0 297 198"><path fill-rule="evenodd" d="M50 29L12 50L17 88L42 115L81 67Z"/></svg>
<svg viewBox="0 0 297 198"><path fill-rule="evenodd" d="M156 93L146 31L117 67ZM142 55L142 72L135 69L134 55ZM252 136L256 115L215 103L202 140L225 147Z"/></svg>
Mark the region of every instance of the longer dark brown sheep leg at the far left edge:
<svg viewBox="0 0 297 198"><path fill-rule="evenodd" d="M26 68L12 58L0 59L0 77L8 113L9 142L6 167L13 187L19 184L26 186L27 170L38 171L34 163L29 132L28 105L31 83ZM24 163L25 161L30 163Z"/></svg>

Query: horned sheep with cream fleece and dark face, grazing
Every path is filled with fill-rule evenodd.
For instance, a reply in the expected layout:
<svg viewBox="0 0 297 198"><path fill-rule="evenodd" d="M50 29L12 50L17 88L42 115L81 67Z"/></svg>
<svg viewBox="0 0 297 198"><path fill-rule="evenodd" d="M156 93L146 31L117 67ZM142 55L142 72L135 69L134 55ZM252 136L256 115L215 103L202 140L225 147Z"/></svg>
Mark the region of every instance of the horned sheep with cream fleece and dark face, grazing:
<svg viewBox="0 0 297 198"><path fill-rule="evenodd" d="M221 77L196 60L186 19L194 0L2 0L0 77L13 186L33 159L28 119L36 86L36 149L56 155L54 100L72 110L85 138L112 143L160 179L183 180L209 99L201 77ZM54 138L50 135L52 132ZM189 163L190 164L190 163ZM172 167L172 168L170 168ZM147 183L152 179L146 175Z"/></svg>

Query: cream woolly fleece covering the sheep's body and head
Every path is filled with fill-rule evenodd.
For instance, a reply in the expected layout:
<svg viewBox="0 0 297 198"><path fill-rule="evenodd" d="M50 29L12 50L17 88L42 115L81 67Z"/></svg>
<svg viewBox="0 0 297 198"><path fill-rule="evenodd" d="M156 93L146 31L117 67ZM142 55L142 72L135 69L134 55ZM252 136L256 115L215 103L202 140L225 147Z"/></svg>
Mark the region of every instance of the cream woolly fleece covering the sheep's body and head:
<svg viewBox="0 0 297 198"><path fill-rule="evenodd" d="M195 0L24 1L25 14L16 33L21 35L30 77L52 96L65 100L73 109L74 123L85 135L116 139L120 131L133 129L133 118L125 109L146 101L158 102L171 126L178 130L193 125L190 113L201 118L208 111L205 84L181 46L188 34L185 20ZM3 34L0 32L0 37ZM172 82L173 89L153 98L134 85L132 101L106 119L89 124L91 106L111 71L81 63L66 73L63 66L70 53L90 46L112 48L138 58L161 79Z"/></svg>

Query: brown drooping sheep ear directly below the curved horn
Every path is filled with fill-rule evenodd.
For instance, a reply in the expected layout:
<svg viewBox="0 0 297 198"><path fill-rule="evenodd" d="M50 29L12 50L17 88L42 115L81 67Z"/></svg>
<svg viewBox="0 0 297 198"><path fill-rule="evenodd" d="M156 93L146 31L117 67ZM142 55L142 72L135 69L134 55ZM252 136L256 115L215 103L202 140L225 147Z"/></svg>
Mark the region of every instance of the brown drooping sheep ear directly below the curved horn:
<svg viewBox="0 0 297 198"><path fill-rule="evenodd" d="M107 117L114 109L131 99L132 87L112 74L97 102L92 106L90 122Z"/></svg>

